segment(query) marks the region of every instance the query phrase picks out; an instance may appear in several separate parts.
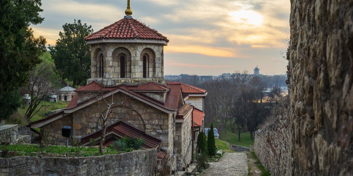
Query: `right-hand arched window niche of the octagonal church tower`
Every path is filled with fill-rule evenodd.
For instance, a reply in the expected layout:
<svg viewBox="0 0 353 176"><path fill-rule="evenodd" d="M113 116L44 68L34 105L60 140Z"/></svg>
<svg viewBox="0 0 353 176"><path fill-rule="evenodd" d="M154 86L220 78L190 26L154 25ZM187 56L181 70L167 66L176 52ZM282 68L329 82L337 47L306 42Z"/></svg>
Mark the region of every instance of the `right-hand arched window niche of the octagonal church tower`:
<svg viewBox="0 0 353 176"><path fill-rule="evenodd" d="M141 51L140 54L140 61L143 63L143 58L147 57L148 58L148 65L146 65L146 68L148 69L146 77L155 77L156 75L156 54L151 48L145 48ZM143 65L142 65L143 67ZM141 70L143 71L143 69Z"/></svg>

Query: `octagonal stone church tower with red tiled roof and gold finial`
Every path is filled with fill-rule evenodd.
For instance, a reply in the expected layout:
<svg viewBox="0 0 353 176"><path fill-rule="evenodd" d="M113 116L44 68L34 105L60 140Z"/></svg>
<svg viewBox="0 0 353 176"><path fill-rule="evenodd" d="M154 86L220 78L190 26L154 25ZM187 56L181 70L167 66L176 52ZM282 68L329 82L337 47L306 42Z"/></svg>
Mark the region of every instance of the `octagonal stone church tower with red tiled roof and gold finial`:
<svg viewBox="0 0 353 176"><path fill-rule="evenodd" d="M130 0L126 16L85 37L91 45L92 81L106 85L138 85L163 79L163 47L169 40L132 18Z"/></svg>

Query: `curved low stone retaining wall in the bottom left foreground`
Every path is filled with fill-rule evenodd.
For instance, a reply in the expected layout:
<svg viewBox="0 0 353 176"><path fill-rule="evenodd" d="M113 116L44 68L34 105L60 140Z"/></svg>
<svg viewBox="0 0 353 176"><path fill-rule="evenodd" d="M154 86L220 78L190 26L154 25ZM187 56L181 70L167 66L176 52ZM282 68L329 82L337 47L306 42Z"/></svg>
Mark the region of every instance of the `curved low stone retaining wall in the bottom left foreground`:
<svg viewBox="0 0 353 176"><path fill-rule="evenodd" d="M156 164L156 149L97 157L16 156L0 158L0 175L154 176Z"/></svg>

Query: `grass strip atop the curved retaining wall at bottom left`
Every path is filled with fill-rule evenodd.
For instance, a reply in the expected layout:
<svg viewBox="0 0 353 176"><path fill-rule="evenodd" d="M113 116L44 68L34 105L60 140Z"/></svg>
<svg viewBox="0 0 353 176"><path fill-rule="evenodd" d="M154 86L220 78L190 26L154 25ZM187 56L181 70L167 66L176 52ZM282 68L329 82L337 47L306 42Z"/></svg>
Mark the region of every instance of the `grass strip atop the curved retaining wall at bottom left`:
<svg viewBox="0 0 353 176"><path fill-rule="evenodd" d="M46 146L40 147L40 145L0 145L0 150L8 150L8 155L4 157L12 156L38 156L38 155L59 155L62 157L72 157L76 156L76 147L66 147L66 146ZM14 152L16 151L16 152ZM107 148L107 152L104 154L116 154L121 153L111 148ZM64 155L66 154L66 156ZM83 147L78 156L99 156L99 148L96 147Z"/></svg>

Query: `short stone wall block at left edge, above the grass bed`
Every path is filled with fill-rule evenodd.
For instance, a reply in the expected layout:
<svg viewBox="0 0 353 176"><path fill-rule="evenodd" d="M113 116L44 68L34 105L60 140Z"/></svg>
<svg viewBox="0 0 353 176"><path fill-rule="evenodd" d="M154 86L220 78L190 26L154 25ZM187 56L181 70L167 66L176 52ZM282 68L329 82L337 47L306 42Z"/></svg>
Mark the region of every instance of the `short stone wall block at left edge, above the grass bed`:
<svg viewBox="0 0 353 176"><path fill-rule="evenodd" d="M14 144L17 142L17 125L0 126L0 144Z"/></svg>

